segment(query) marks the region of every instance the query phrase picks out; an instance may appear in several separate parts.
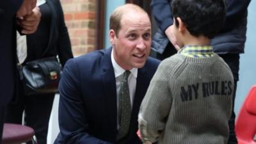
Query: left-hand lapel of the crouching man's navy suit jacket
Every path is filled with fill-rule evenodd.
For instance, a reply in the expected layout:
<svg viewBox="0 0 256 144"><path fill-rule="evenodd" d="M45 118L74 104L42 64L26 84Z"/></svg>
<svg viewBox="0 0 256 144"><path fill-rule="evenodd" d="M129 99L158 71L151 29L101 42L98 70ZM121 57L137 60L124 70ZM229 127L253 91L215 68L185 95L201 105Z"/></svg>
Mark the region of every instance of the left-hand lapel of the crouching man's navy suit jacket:
<svg viewBox="0 0 256 144"><path fill-rule="evenodd" d="M116 81L113 65L111 63L111 49L107 49L102 59L102 83L104 102L106 108L107 124L109 132L116 136Z"/></svg>

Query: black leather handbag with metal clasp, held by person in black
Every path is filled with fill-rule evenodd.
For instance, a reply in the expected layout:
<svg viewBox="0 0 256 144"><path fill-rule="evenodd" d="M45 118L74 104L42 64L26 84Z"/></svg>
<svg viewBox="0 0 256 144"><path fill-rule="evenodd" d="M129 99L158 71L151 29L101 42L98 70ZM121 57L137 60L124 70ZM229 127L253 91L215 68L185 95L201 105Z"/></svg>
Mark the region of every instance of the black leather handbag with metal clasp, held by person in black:
<svg viewBox="0 0 256 144"><path fill-rule="evenodd" d="M29 61L19 69L25 95L58 92L62 67L56 57Z"/></svg>

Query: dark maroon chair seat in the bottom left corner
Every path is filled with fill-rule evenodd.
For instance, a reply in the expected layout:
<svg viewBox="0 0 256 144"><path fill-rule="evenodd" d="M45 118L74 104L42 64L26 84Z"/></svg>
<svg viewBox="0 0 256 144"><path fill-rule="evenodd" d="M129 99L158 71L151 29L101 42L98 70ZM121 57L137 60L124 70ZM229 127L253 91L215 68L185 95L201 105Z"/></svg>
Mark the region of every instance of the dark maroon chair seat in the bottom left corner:
<svg viewBox="0 0 256 144"><path fill-rule="evenodd" d="M34 130L31 127L19 124L4 124L1 144L20 144L32 141L36 144Z"/></svg>

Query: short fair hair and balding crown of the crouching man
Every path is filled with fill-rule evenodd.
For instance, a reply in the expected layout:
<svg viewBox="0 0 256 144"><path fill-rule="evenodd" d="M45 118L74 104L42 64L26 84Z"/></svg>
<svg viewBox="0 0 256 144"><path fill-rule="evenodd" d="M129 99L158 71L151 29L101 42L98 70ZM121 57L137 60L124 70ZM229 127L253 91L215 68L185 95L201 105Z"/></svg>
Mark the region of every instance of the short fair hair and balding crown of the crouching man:
<svg viewBox="0 0 256 144"><path fill-rule="evenodd" d="M118 6L110 16L109 19L109 29L113 29L118 35L119 30L121 29L121 20L124 13L129 12L129 10L134 10L136 12L145 12L140 6L136 4L124 4L123 6Z"/></svg>

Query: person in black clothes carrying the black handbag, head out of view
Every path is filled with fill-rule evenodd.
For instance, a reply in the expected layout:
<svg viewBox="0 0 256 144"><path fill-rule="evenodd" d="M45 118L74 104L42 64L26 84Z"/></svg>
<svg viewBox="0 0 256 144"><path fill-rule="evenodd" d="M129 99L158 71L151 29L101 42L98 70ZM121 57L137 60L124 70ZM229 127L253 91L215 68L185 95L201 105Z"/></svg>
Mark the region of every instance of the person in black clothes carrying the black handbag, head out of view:
<svg viewBox="0 0 256 144"><path fill-rule="evenodd" d="M19 62L26 63L58 55L61 65L64 66L68 59L73 58L73 54L60 0L38 0L36 5L38 7L34 10L38 9L42 13L41 21L35 33L26 35L26 59ZM26 24L22 20L17 22L20 26ZM24 95L21 81L18 82L18 88L19 95L8 106L5 122L21 124L24 111L25 125L35 130L39 144L46 144L55 93Z"/></svg>

